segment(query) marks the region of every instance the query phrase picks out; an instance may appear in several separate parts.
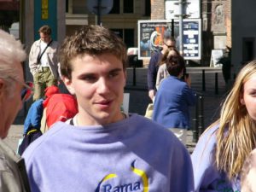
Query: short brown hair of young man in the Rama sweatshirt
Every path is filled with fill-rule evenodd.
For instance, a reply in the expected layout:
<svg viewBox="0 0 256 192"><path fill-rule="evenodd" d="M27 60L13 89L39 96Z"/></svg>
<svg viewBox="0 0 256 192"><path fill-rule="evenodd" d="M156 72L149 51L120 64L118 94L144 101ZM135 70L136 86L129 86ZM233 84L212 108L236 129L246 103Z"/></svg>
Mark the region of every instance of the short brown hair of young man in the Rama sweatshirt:
<svg viewBox="0 0 256 192"><path fill-rule="evenodd" d="M72 79L70 61L80 55L115 55L125 70L127 54L123 40L103 26L83 26L71 37L64 39L60 49L61 75Z"/></svg>

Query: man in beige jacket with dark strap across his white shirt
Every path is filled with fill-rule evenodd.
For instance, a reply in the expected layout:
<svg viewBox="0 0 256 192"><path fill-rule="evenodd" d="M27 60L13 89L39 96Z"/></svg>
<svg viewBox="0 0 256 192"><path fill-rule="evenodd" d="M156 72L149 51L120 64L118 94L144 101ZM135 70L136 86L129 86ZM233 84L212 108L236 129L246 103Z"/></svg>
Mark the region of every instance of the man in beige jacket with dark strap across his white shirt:
<svg viewBox="0 0 256 192"><path fill-rule="evenodd" d="M32 44L29 54L29 67L35 85L33 101L44 97L44 90L57 85L58 74L58 43L51 38L51 28L41 26L38 30L40 39Z"/></svg>

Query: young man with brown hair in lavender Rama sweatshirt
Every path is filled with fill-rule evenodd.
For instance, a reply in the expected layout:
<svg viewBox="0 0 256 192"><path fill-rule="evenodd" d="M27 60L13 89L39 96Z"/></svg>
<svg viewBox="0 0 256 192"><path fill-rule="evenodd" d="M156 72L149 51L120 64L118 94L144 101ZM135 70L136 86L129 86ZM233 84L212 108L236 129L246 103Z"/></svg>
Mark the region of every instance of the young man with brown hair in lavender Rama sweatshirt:
<svg viewBox="0 0 256 192"><path fill-rule="evenodd" d="M120 111L126 49L102 26L66 38L61 74L79 113L26 149L32 191L194 190L186 148L171 131Z"/></svg>

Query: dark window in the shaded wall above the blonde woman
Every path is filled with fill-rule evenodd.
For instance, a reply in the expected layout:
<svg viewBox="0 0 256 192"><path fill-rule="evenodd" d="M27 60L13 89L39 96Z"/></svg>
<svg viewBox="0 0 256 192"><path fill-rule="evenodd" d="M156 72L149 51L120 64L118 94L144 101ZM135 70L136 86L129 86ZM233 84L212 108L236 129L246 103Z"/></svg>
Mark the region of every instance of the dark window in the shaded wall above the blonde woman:
<svg viewBox="0 0 256 192"><path fill-rule="evenodd" d="M242 38L242 61L254 59L254 38Z"/></svg>

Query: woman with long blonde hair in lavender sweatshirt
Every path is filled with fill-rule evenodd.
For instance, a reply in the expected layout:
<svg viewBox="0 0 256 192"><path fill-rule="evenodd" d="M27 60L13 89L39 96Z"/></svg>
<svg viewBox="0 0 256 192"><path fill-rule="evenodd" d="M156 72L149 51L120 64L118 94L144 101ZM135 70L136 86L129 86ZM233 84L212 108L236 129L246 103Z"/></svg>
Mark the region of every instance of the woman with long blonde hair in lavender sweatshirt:
<svg viewBox="0 0 256 192"><path fill-rule="evenodd" d="M241 69L220 118L201 136L192 162L195 191L240 191L240 173L256 146L256 61Z"/></svg>

